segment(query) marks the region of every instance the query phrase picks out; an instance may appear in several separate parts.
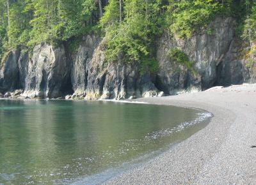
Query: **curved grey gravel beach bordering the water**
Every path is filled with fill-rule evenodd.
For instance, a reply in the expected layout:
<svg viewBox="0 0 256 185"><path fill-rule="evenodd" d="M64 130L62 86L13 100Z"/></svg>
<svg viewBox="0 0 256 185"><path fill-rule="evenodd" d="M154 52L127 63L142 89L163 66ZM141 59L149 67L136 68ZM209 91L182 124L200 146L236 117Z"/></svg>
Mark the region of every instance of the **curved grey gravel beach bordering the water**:
<svg viewBox="0 0 256 185"><path fill-rule="evenodd" d="M256 184L256 84L136 101L200 108L214 117L158 158L105 184Z"/></svg>

